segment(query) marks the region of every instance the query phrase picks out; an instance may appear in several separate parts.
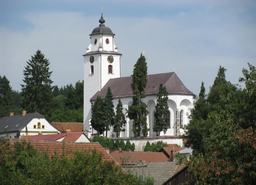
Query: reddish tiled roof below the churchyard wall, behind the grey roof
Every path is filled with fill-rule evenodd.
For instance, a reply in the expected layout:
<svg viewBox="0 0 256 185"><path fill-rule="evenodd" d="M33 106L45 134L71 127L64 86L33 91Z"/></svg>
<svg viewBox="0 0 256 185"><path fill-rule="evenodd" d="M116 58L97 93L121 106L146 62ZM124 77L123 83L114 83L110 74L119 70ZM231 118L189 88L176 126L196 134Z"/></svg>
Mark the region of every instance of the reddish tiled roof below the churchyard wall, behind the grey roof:
<svg viewBox="0 0 256 185"><path fill-rule="evenodd" d="M117 163L121 163L122 159L126 159L127 161L140 161L145 160L146 162L162 162L167 161L168 157L162 152L143 152L143 151L114 151L110 153L110 155L116 160ZM122 158L122 159L121 159Z"/></svg>

